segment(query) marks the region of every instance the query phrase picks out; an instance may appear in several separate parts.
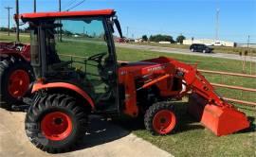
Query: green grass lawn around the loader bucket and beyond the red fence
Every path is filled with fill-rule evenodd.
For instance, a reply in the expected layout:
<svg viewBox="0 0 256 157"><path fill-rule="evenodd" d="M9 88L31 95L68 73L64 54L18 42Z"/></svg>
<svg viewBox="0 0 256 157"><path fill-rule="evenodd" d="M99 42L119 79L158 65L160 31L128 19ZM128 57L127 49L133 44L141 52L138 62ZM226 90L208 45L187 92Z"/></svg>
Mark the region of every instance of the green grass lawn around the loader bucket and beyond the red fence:
<svg viewBox="0 0 256 157"><path fill-rule="evenodd" d="M28 42L28 37L22 36L22 41ZM7 37L0 34L0 41L13 40L13 36ZM76 44L76 47L84 46L85 44ZM77 54L72 44L60 45L67 53L72 55ZM65 46L65 47L64 47ZM87 46L87 47L86 47ZM89 44L86 44L84 49L92 51ZM171 57L179 61L187 63L197 63L198 68L207 70L219 70L227 72L242 73L242 61L234 61L227 59L216 59L210 57L199 57L190 55L168 54L160 52L150 52L143 50L134 50L128 48L117 48L118 59L121 61L139 61L151 59L159 56ZM249 62L247 62L246 72L249 74ZM252 64L253 75L256 73L256 64ZM256 88L256 80L253 78L238 78L238 77L221 77L216 75L205 75L210 82L225 83L230 85L244 86L248 88ZM217 92L223 96L245 99L256 102L255 93L246 95L245 92L218 88ZM246 107L240 109L247 113L251 121L251 127L247 131L238 132L223 137L216 137L209 130L202 127L199 123L194 122L192 117L186 113L187 103L186 98L182 102L174 102L177 108L179 117L179 126L172 135L154 136L148 131L145 131L143 123L133 119L120 120L118 123L123 128L132 131L137 136L153 143L155 146L165 149L174 154L174 156L255 156L256 151L256 132L255 132L255 108ZM129 125L126 125L129 124Z"/></svg>

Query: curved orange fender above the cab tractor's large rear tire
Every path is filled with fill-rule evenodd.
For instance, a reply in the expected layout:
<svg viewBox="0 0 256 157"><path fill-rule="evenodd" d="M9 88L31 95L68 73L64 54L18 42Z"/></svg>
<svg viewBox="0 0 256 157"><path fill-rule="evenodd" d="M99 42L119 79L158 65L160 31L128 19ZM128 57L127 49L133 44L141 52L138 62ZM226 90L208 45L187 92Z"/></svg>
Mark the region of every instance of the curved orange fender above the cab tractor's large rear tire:
<svg viewBox="0 0 256 157"><path fill-rule="evenodd" d="M52 82L43 84L42 82L36 82L33 84L31 93L35 93L40 90L53 90L53 89L62 89L62 90L70 90L77 93L79 96L82 96L91 106L92 110L95 109L94 102L92 98L86 94L80 87L66 82Z"/></svg>

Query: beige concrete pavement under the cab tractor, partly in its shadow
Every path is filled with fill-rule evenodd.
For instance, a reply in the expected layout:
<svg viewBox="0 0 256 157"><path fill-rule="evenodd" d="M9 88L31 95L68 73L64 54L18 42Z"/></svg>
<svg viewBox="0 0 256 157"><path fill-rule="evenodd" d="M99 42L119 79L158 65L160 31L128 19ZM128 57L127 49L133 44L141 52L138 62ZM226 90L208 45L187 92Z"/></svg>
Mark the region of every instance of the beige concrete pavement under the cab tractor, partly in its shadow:
<svg viewBox="0 0 256 157"><path fill-rule="evenodd" d="M129 131L90 117L90 132L84 135L83 143L74 151L48 154L35 148L24 130L25 113L13 113L0 109L0 157L170 157L168 152L156 148Z"/></svg>

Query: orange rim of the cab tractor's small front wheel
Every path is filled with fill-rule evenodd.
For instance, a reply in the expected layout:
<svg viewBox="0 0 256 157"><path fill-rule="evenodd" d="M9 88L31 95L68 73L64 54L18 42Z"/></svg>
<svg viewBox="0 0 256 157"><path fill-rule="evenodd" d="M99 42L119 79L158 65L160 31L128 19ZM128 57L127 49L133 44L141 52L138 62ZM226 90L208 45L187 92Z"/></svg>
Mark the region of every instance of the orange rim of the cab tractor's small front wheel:
<svg viewBox="0 0 256 157"><path fill-rule="evenodd" d="M162 110L155 114L153 127L159 134L167 134L174 130L176 117L169 110Z"/></svg>

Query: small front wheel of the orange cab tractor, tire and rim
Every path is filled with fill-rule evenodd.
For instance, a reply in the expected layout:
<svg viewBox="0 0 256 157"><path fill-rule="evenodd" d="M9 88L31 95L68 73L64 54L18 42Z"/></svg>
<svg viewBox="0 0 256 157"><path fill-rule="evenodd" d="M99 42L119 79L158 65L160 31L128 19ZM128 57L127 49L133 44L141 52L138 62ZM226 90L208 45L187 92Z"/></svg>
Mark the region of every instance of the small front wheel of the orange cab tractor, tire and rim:
<svg viewBox="0 0 256 157"><path fill-rule="evenodd" d="M168 134L176 127L174 106L167 102L153 104L145 113L144 124L154 134Z"/></svg>

